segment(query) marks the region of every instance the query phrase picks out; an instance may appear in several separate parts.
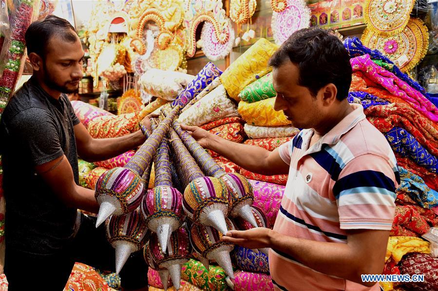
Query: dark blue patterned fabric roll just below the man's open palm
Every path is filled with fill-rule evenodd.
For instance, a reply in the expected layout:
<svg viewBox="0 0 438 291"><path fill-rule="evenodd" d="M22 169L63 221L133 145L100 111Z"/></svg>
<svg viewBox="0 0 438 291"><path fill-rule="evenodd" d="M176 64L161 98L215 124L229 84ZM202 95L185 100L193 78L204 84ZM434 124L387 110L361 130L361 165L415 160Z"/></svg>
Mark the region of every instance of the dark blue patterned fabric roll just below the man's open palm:
<svg viewBox="0 0 438 291"><path fill-rule="evenodd" d="M262 252L256 254L247 248L236 246L234 248L234 258L234 263L240 270L256 273L269 273L267 255Z"/></svg>

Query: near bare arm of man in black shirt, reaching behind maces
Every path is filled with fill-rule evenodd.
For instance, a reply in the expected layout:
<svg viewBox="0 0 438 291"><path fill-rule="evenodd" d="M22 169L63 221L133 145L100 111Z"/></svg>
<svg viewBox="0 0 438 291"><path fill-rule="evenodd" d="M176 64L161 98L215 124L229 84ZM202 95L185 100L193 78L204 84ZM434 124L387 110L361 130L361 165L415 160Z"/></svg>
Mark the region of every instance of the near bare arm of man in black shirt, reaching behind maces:
<svg viewBox="0 0 438 291"><path fill-rule="evenodd" d="M95 191L76 185L72 167L65 155L38 165L35 169L65 205L93 213L98 212L99 205L95 200Z"/></svg>

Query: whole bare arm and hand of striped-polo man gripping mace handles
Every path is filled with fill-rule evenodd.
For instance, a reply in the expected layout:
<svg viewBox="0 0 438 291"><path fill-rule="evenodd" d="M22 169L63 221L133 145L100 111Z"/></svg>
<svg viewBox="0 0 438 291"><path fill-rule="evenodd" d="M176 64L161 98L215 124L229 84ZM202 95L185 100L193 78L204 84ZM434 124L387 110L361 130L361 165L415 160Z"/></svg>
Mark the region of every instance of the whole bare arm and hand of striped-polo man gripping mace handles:
<svg viewBox="0 0 438 291"><path fill-rule="evenodd" d="M289 172L289 165L280 158L278 149L268 151L259 146L231 142L200 127L181 125L204 148L214 150L234 164L262 175L279 175Z"/></svg>

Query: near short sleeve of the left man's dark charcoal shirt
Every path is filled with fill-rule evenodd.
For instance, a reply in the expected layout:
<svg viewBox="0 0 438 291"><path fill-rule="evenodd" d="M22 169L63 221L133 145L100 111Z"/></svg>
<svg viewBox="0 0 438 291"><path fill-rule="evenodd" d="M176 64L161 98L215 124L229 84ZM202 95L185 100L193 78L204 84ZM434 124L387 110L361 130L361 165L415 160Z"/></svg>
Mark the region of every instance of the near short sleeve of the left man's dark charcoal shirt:
<svg viewBox="0 0 438 291"><path fill-rule="evenodd" d="M44 109L30 108L17 114L8 125L10 136L22 145L34 165L45 164L64 154L53 117Z"/></svg>

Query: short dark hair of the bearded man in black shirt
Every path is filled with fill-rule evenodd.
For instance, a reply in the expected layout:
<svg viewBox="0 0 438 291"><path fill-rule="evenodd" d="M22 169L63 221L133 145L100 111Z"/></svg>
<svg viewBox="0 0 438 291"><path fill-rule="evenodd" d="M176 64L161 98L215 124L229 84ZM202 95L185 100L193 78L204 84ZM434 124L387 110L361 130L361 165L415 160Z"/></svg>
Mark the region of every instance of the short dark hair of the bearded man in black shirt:
<svg viewBox="0 0 438 291"><path fill-rule="evenodd" d="M40 57L45 57L47 46L53 36L60 36L68 42L75 42L77 33L75 28L63 18L54 15L35 21L26 31L27 54L36 53Z"/></svg>

